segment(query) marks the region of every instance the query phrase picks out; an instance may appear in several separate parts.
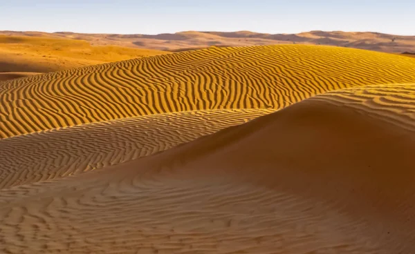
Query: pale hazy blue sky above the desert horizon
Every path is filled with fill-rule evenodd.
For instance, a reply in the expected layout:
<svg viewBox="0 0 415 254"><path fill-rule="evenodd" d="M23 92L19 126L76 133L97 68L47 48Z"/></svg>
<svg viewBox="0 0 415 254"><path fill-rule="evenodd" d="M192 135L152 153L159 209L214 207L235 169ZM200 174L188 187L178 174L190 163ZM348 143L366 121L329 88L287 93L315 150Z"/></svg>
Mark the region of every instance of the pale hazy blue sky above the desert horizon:
<svg viewBox="0 0 415 254"><path fill-rule="evenodd" d="M415 0L0 0L0 30L344 30L415 35Z"/></svg>

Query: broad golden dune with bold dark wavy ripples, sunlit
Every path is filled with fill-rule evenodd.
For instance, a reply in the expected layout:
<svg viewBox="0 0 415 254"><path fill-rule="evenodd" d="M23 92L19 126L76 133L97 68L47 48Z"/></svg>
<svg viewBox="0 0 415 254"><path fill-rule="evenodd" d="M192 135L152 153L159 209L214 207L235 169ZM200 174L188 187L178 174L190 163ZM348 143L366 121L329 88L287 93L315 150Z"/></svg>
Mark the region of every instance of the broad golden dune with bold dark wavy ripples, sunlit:
<svg viewBox="0 0 415 254"><path fill-rule="evenodd" d="M209 48L6 81L0 135L169 112L280 109L362 85L415 81L409 57L329 46Z"/></svg>

